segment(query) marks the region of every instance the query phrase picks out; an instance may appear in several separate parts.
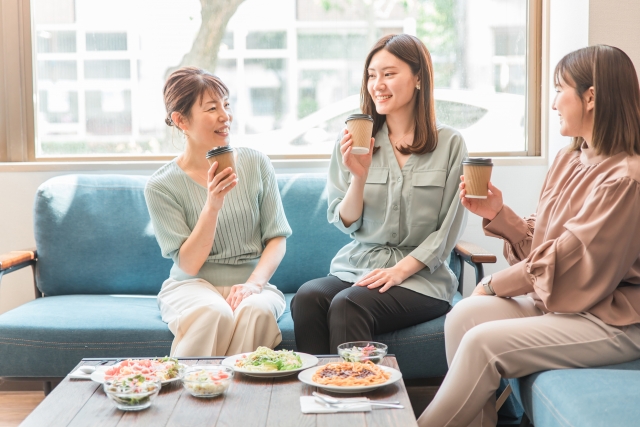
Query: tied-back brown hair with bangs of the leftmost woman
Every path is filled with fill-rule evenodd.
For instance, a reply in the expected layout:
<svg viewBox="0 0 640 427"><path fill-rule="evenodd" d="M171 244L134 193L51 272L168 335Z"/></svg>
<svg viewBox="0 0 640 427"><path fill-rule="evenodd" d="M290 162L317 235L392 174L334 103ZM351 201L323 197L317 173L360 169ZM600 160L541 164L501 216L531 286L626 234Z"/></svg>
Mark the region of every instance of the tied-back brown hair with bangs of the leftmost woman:
<svg viewBox="0 0 640 427"><path fill-rule="evenodd" d="M202 103L205 92L211 92L222 99L229 97L229 89L218 77L197 67L182 67L169 76L164 84L164 105L167 126L175 126L171 114L178 112L191 118L191 107L196 101Z"/></svg>

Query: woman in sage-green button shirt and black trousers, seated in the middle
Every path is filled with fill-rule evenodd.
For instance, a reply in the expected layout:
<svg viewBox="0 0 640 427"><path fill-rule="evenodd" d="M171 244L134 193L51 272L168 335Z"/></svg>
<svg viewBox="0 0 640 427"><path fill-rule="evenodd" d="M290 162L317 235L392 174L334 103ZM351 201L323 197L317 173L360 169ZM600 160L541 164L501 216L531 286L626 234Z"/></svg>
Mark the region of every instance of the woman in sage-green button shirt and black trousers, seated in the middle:
<svg viewBox="0 0 640 427"><path fill-rule="evenodd" d="M465 223L456 194L467 150L436 123L432 70L427 48L406 34L383 37L367 56L361 109L375 139L354 155L345 130L327 182L329 222L353 241L291 303L300 351L336 353L451 307L458 282L447 258Z"/></svg>

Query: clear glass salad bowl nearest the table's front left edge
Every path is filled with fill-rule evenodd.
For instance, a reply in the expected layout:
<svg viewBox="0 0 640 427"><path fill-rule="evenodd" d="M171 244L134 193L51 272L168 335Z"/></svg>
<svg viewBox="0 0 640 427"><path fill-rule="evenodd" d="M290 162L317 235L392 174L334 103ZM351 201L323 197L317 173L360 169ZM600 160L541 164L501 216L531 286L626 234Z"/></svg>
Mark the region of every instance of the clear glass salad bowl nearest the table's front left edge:
<svg viewBox="0 0 640 427"><path fill-rule="evenodd" d="M122 411L140 411L151 406L162 385L155 377L131 375L107 380L105 394Z"/></svg>

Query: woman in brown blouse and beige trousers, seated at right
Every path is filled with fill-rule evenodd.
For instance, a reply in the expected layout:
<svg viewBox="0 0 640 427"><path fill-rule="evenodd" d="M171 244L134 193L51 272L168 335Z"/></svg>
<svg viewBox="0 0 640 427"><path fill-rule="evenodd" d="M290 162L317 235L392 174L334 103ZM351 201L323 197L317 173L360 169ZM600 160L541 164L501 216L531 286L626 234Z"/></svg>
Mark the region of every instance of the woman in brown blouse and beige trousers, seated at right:
<svg viewBox="0 0 640 427"><path fill-rule="evenodd" d="M560 61L555 86L560 133L573 142L547 173L536 215L519 218L493 185L486 200L465 199L460 184L511 267L447 315L449 373L421 426L495 426L501 377L640 357L636 71L621 50L592 46Z"/></svg>

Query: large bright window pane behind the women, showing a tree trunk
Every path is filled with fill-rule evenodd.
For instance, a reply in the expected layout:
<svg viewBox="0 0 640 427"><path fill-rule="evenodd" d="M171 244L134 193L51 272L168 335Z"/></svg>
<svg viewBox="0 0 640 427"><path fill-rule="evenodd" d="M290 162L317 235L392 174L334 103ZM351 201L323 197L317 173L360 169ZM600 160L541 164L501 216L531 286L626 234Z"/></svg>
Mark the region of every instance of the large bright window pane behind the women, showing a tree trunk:
<svg viewBox="0 0 640 427"><path fill-rule="evenodd" d="M164 123L162 87L172 70L196 65L231 91L233 145L273 158L328 157L344 118L359 110L369 48L405 32L431 51L437 118L471 152L535 155L539 112L527 106L539 85L539 3L31 0L30 152L175 155L183 141Z"/></svg>

